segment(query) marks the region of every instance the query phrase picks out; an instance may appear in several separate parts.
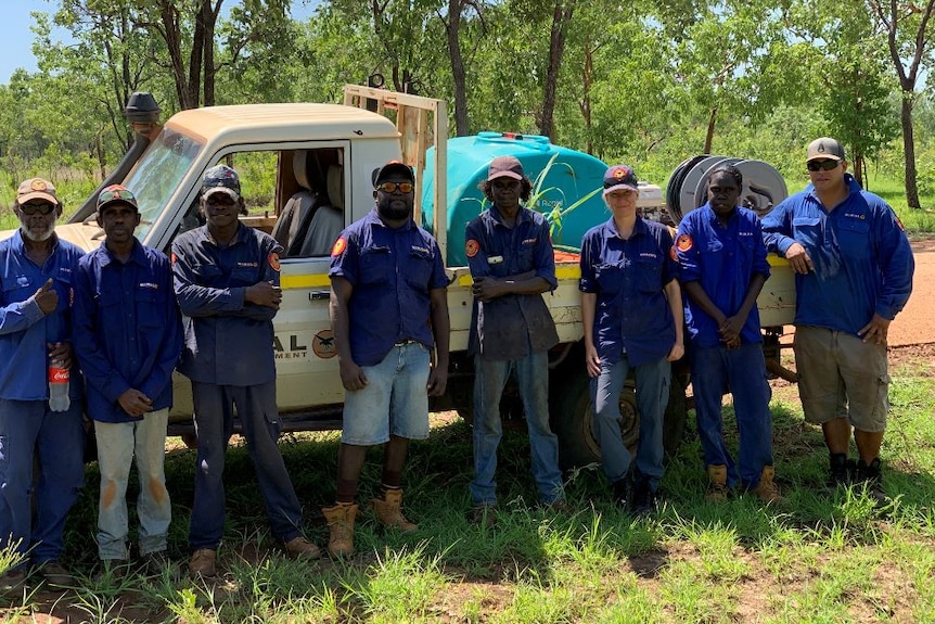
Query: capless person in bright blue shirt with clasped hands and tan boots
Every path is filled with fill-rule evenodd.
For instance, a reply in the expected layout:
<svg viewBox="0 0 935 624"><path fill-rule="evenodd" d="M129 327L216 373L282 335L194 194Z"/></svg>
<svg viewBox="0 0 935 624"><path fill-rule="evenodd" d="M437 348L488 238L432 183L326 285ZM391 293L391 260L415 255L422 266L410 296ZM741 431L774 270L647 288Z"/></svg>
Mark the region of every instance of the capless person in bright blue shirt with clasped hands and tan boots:
<svg viewBox="0 0 935 624"><path fill-rule="evenodd" d="M718 167L707 203L679 224L676 253L689 295L692 387L708 473L708 500L723 500L740 481L763 500L780 499L773 481L771 391L766 380L756 297L769 277L756 214L738 207L743 176ZM723 442L721 397L733 395L740 434L738 466Z"/></svg>

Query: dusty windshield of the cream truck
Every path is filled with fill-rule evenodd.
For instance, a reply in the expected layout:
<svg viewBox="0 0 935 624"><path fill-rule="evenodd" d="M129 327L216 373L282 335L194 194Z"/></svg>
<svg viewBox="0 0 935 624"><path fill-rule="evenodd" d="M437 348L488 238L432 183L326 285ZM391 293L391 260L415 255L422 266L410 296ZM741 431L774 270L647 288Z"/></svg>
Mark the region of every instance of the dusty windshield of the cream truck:
<svg viewBox="0 0 935 624"><path fill-rule="evenodd" d="M169 128L163 128L150 149L124 180L132 189L140 206L140 225L136 235L145 241L169 198L181 184L189 166L202 150L202 143Z"/></svg>

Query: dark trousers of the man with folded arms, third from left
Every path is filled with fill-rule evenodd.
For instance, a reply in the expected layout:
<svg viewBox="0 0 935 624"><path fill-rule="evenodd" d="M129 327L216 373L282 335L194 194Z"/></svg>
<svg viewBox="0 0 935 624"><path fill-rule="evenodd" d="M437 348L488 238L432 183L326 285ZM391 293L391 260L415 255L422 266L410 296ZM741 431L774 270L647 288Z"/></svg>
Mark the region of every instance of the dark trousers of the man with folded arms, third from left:
<svg viewBox="0 0 935 624"><path fill-rule="evenodd" d="M302 534L302 507L277 446L282 431L276 382L216 385L192 382L198 438L195 496L189 526L192 550L217 550L225 527L225 451L233 432L233 408L243 425L251 462L259 482L270 529L280 542Z"/></svg>

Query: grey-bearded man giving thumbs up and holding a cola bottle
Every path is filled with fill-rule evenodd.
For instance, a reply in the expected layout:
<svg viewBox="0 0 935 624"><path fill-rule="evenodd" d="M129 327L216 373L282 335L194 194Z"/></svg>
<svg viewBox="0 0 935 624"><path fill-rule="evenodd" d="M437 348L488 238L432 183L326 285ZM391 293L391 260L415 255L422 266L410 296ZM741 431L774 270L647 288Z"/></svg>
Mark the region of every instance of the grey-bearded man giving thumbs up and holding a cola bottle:
<svg viewBox="0 0 935 624"><path fill-rule="evenodd" d="M63 530L85 482L82 383L71 344L74 270L82 252L55 234L62 203L51 182L25 180L13 213L20 229L0 242L0 547L22 560L0 580L5 589L26 583L27 559L47 582L72 584L60 562ZM49 405L52 365L71 370L65 411Z"/></svg>

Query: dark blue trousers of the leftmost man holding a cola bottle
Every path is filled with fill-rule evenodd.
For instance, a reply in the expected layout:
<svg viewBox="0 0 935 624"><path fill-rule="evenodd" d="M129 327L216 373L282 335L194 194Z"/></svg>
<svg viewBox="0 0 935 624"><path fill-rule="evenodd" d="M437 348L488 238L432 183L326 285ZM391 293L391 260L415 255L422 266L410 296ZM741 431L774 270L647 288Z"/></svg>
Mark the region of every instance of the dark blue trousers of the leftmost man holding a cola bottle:
<svg viewBox="0 0 935 624"><path fill-rule="evenodd" d="M81 402L73 400L66 411L50 411L47 400L0 399L0 547L15 544L23 555L31 548L36 564L60 559L65 517L84 484Z"/></svg>

